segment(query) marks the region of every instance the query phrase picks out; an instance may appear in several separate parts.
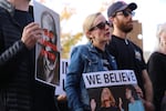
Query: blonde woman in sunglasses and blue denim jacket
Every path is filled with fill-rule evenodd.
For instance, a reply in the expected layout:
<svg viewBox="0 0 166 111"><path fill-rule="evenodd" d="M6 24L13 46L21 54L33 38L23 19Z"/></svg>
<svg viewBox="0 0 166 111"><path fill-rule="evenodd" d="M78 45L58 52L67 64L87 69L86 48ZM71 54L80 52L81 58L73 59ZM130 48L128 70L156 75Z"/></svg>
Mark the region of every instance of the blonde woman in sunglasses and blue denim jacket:
<svg viewBox="0 0 166 111"><path fill-rule="evenodd" d="M101 12L87 16L83 23L84 34L90 42L72 50L64 85L71 111L91 111L82 73L117 69L114 57L105 50L111 40L110 30L111 23Z"/></svg>

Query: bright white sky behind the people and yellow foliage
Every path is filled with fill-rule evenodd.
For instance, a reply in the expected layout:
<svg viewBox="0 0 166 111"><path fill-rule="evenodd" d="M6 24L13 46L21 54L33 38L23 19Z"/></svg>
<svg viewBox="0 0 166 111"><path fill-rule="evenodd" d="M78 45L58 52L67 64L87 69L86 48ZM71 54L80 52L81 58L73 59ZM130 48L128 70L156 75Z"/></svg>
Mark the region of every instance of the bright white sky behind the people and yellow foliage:
<svg viewBox="0 0 166 111"><path fill-rule="evenodd" d="M39 1L39 0L38 0ZM82 31L82 23L85 17L92 12L96 12L101 8L102 2L110 2L111 0L45 0L44 3L50 9L61 14L64 6L76 9L76 12L69 21L61 22L63 26L62 32L76 33ZM118 0L115 0L118 1ZM143 31L143 50L152 52L156 46L156 29L159 23L166 22L166 0L123 0L127 3L136 2L138 8L135 10L136 14L133 19L142 22ZM103 12L106 17L106 11ZM83 41L86 41L83 38Z"/></svg>

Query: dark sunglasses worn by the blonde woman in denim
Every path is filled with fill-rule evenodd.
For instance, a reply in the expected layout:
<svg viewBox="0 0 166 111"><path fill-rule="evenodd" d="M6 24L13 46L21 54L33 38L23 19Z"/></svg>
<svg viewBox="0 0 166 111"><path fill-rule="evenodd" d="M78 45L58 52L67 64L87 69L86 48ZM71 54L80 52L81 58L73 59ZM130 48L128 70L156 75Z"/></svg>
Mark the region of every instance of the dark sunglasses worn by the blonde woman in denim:
<svg viewBox="0 0 166 111"><path fill-rule="evenodd" d="M108 26L108 27L112 27L112 24L108 22L108 21L105 21L105 22L100 22L98 24L96 24L95 27L92 27L89 31L93 31L94 29L100 29L100 30L103 30L105 29L105 26Z"/></svg>

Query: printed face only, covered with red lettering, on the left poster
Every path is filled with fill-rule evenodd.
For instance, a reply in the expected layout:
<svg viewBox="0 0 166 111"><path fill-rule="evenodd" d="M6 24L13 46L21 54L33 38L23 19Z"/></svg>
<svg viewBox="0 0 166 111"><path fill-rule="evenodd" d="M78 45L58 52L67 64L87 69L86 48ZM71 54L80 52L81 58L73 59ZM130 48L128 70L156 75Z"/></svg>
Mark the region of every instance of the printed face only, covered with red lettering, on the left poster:
<svg viewBox="0 0 166 111"><path fill-rule="evenodd" d="M50 14L45 14L45 17L42 18L42 28L44 30L43 40L46 42L44 46L45 54L43 58L43 63L46 67L48 70L53 70L55 67L55 49L53 48L53 44L56 44L55 42L55 26L53 18L50 17Z"/></svg>

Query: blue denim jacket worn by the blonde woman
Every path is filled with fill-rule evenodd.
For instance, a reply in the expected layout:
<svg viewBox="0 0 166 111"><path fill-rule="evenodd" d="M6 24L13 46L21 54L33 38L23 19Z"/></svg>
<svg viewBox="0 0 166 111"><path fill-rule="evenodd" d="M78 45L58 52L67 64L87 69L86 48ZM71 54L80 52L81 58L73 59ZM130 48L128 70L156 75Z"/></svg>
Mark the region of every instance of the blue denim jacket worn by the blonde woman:
<svg viewBox="0 0 166 111"><path fill-rule="evenodd" d="M113 70L117 69L114 57L108 54ZM82 73L104 71L102 57L92 43L75 47L71 53L65 80L65 91L71 111L91 111L90 99Z"/></svg>

